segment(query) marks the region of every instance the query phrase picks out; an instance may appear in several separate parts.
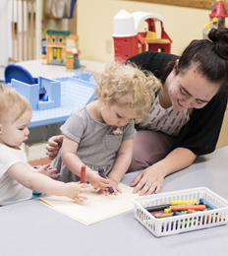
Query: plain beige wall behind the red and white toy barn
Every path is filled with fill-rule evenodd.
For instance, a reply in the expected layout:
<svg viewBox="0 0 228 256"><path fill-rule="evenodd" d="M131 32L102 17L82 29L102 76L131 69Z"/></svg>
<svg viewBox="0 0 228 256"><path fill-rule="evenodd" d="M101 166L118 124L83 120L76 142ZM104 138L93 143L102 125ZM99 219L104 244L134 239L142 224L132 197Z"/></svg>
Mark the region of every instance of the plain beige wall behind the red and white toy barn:
<svg viewBox="0 0 228 256"><path fill-rule="evenodd" d="M202 38L203 24L209 22L209 10L122 0L78 0L78 28L81 59L114 60L113 18L122 9L129 13L161 15L173 40L171 53L181 54L192 39ZM112 40L112 53L106 53L106 39Z"/></svg>

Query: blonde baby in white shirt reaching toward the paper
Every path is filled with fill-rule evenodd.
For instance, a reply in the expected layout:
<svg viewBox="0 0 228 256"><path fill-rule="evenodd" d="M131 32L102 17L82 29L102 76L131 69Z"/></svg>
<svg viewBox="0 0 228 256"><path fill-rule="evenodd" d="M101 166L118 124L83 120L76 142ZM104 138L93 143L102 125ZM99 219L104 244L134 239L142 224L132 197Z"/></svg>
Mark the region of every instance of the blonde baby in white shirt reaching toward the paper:
<svg viewBox="0 0 228 256"><path fill-rule="evenodd" d="M86 184L53 180L50 177L57 175L49 164L39 169L28 164L22 144L28 140L30 119L28 99L9 86L0 86L0 206L28 200L32 190L83 202L86 198L81 194L91 191Z"/></svg>

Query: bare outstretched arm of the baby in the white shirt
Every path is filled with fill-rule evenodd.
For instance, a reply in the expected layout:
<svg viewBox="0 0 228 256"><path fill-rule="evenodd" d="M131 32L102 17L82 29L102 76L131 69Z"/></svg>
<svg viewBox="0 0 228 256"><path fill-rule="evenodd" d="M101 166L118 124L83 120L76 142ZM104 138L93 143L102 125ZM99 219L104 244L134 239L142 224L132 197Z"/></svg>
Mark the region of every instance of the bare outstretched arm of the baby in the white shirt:
<svg viewBox="0 0 228 256"><path fill-rule="evenodd" d="M13 164L6 173L28 189L44 194L66 196L74 199L78 203L82 203L86 199L81 193L92 191L91 188L87 188L87 184L85 183L64 183L53 180L40 173L32 172L24 162Z"/></svg>

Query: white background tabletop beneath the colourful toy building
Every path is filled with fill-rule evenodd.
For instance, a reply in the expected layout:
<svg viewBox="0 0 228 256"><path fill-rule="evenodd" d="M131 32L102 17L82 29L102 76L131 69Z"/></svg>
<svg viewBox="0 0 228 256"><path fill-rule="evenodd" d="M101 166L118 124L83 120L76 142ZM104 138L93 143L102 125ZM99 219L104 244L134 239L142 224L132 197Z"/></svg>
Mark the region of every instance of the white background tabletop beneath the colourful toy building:
<svg viewBox="0 0 228 256"><path fill-rule="evenodd" d="M90 60L81 60L80 64L85 66L85 69L100 71L103 70L106 63L90 61ZM42 64L41 59L38 60L28 60L23 62L18 62L17 65L20 65L28 70L32 77L37 78L38 76L43 76L46 78L59 78L59 77L68 77L74 76L76 71L67 71L66 66L57 66Z"/></svg>

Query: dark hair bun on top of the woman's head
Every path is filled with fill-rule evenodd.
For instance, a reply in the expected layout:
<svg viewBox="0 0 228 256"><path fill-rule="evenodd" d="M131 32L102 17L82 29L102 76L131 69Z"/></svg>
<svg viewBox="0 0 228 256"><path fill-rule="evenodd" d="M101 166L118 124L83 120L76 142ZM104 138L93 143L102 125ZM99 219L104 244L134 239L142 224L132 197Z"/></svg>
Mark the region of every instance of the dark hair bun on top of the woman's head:
<svg viewBox="0 0 228 256"><path fill-rule="evenodd" d="M213 50L217 55L225 60L228 60L228 29L212 29L208 33L208 38L214 43Z"/></svg>

